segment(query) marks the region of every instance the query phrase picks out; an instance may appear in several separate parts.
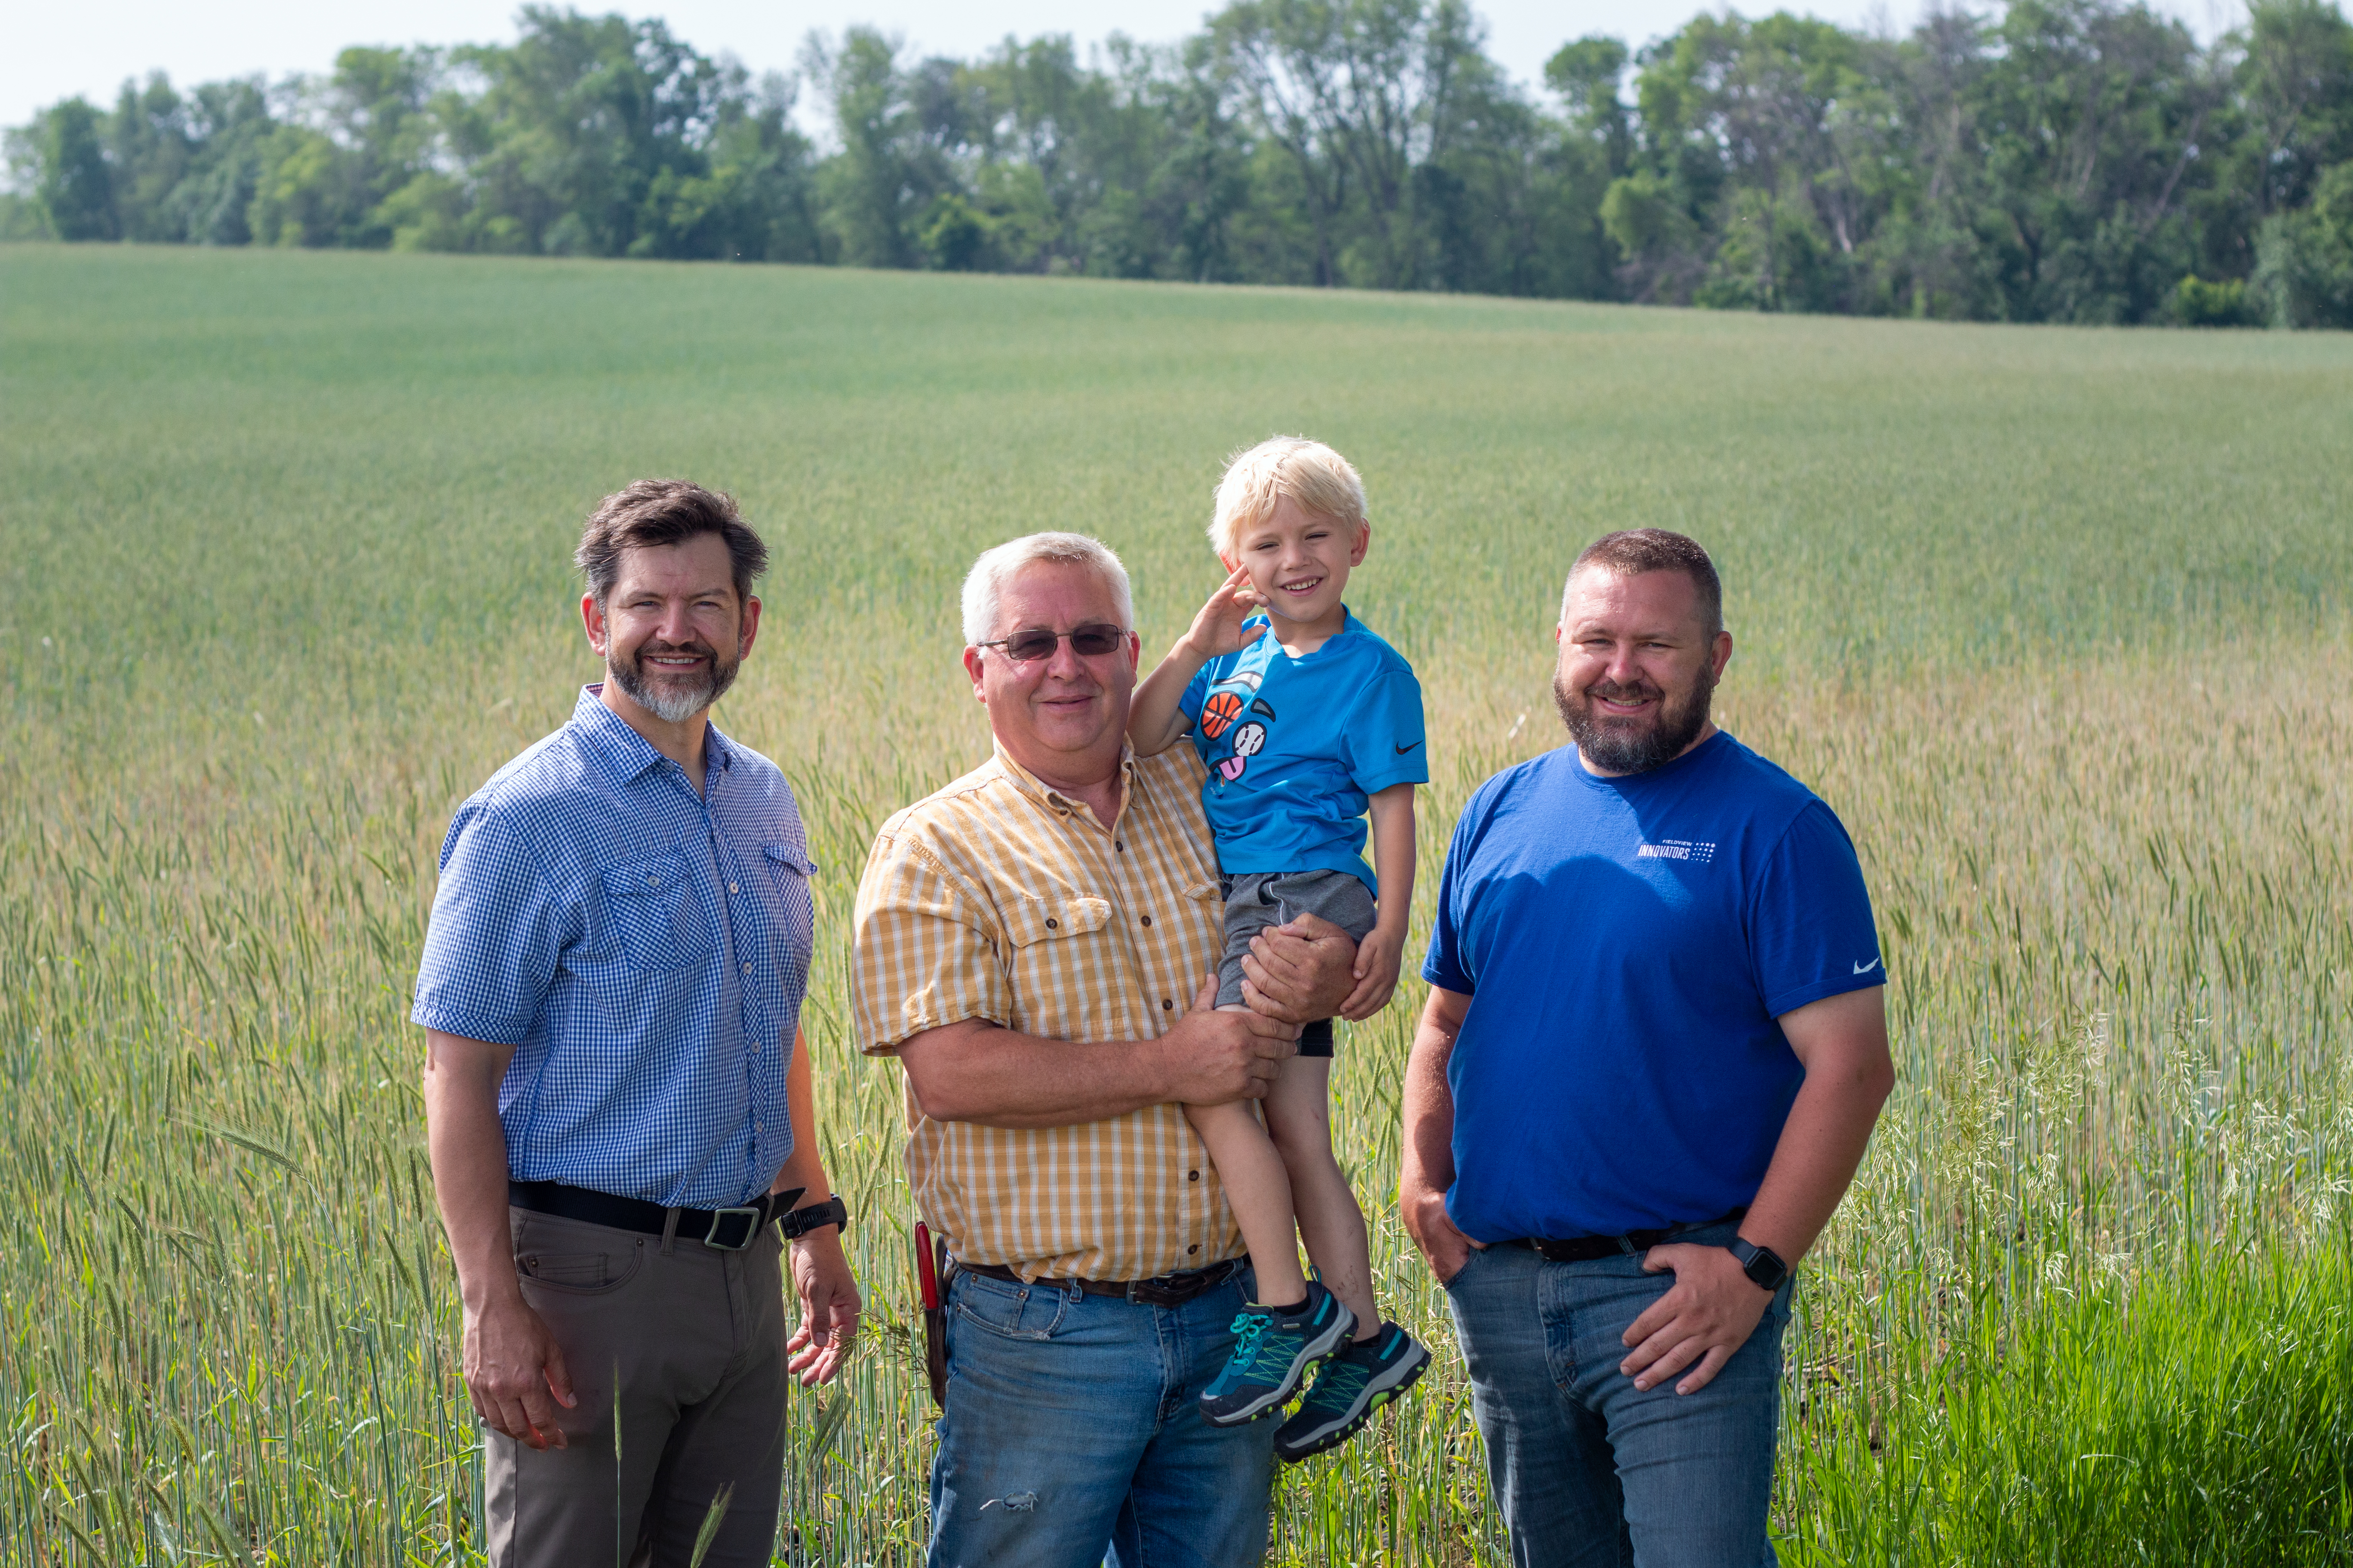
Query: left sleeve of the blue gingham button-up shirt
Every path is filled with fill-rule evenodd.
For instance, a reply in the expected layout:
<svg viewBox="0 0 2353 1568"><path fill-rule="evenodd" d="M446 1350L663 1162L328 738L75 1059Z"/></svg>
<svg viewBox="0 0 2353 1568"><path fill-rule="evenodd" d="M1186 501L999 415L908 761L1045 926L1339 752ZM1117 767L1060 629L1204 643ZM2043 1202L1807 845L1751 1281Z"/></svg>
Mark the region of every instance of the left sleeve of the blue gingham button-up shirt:
<svg viewBox="0 0 2353 1568"><path fill-rule="evenodd" d="M576 919L529 844L494 809L468 804L442 839L409 1018L442 1034L522 1044Z"/></svg>

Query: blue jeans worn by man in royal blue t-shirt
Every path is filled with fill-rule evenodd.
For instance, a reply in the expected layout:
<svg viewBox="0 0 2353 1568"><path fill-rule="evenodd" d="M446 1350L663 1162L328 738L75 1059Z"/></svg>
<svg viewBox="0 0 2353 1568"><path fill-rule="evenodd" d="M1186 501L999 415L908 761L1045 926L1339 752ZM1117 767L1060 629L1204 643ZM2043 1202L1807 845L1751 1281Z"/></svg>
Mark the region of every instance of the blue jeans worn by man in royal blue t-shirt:
<svg viewBox="0 0 2353 1568"><path fill-rule="evenodd" d="M1675 1241L1722 1246L1737 1222ZM1784 1284L1715 1380L1647 1394L1619 1335L1675 1284L1640 1258L1546 1262L1471 1251L1447 1281L1487 1446L1487 1483L1522 1568L1769 1568L1765 1509L1781 1415Z"/></svg>

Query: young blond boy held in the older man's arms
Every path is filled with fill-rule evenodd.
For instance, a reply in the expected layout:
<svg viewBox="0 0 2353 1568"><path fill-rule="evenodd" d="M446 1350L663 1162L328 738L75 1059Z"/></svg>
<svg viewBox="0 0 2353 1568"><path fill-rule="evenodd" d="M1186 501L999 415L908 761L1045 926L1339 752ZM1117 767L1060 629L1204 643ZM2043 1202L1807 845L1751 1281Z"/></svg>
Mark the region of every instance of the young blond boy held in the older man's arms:
<svg viewBox="0 0 2353 1568"><path fill-rule="evenodd" d="M1341 1016L1372 1018L1398 985L1414 785L1431 773L1412 665L1341 602L1372 545L1365 484L1322 442L1261 442L1226 468L1209 541L1228 576L1136 689L1127 733L1141 755L1191 733L1209 764L1202 806L1226 882L1217 1001L1242 1006L1252 936L1320 914L1358 938L1358 985ZM1362 858L1367 811L1379 877ZM1186 1107L1259 1279L1259 1302L1238 1321L1235 1354L1202 1410L1217 1425L1280 1410L1325 1361L1275 1434L1287 1462L1348 1441L1428 1366L1428 1352L1374 1307L1365 1213L1332 1159L1329 1074L1327 1018L1301 1034L1266 1095L1264 1126L1240 1100ZM1299 1272L1301 1239L1318 1281Z"/></svg>

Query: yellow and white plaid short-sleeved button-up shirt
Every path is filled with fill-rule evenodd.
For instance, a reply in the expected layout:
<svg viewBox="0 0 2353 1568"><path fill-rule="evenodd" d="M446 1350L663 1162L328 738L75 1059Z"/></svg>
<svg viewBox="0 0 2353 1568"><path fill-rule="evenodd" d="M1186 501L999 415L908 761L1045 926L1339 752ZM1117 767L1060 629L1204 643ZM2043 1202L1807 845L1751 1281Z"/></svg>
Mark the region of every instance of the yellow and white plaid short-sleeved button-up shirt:
<svg viewBox="0 0 2353 1568"><path fill-rule="evenodd" d="M1217 969L1224 903L1191 745L1122 757L1106 830L1002 750L882 823L859 879L849 1001L892 1056L965 1018L1068 1041L1158 1039ZM1179 1105L1111 1121L932 1121L906 1095L915 1201L965 1262L1151 1279L1242 1253Z"/></svg>

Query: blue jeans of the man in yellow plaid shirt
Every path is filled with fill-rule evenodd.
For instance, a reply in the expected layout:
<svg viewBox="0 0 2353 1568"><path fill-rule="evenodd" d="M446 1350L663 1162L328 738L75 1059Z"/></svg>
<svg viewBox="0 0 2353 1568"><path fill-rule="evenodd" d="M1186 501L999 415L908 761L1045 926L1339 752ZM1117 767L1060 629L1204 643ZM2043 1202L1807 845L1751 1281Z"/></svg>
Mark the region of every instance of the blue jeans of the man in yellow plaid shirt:
<svg viewBox="0 0 2353 1568"><path fill-rule="evenodd" d="M1275 1422L1212 1427L1242 1269L1184 1307L958 1272L932 1568L1242 1568L1266 1556Z"/></svg>

